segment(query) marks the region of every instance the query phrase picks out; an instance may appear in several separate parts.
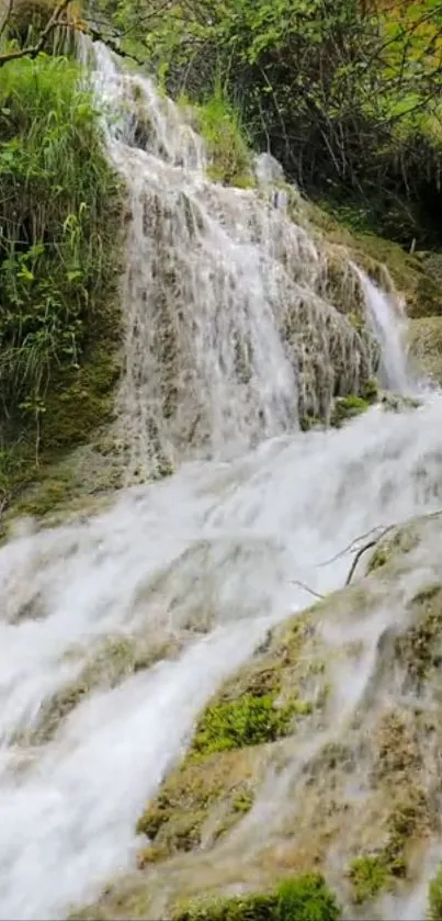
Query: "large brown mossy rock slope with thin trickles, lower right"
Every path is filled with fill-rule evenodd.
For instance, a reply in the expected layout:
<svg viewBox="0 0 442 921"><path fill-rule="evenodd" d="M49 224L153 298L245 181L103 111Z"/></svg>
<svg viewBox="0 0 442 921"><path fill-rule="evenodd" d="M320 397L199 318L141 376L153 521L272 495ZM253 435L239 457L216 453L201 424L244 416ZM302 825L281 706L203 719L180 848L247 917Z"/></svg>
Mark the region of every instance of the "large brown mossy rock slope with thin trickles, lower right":
<svg viewBox="0 0 442 921"><path fill-rule="evenodd" d="M442 831L441 525L390 530L362 580L268 634L146 805L138 872L72 917L170 918L310 872L345 918L403 917Z"/></svg>

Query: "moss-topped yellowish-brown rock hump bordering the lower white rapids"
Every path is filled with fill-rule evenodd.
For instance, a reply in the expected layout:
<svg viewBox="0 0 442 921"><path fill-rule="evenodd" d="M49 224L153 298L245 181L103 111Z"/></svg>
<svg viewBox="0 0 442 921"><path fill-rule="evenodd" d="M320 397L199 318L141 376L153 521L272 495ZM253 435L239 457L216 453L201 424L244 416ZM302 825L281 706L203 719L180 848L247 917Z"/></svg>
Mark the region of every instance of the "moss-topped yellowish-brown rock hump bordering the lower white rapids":
<svg viewBox="0 0 442 921"><path fill-rule="evenodd" d="M156 854L191 851L203 841L212 846L237 824L253 804L270 743L296 732L325 705L326 684L309 616L275 631L267 650L203 710L188 755L140 817L137 831Z"/></svg>

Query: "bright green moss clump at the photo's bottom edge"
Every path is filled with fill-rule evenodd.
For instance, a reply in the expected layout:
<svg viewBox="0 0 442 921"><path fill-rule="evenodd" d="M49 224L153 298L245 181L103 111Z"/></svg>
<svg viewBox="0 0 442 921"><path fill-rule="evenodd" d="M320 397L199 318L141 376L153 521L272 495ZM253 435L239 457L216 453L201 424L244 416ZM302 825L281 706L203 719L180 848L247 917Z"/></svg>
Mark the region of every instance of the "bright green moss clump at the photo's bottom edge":
<svg viewBox="0 0 442 921"><path fill-rule="evenodd" d="M179 909L173 921L338 921L340 908L319 874L285 879L274 892L200 901Z"/></svg>

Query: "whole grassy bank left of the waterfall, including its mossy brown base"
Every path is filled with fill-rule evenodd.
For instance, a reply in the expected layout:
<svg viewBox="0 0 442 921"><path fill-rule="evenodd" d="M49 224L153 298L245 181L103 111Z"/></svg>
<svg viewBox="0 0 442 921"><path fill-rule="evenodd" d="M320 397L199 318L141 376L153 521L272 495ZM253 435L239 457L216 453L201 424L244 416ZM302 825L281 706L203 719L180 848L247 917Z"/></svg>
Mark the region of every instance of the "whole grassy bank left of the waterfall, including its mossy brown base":
<svg viewBox="0 0 442 921"><path fill-rule="evenodd" d="M109 416L118 373L122 192L92 94L68 58L42 53L2 69L0 138L7 501L48 453L78 443Z"/></svg>

